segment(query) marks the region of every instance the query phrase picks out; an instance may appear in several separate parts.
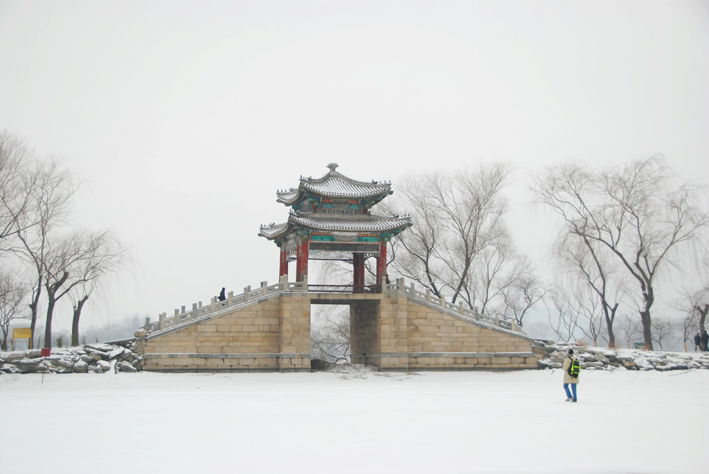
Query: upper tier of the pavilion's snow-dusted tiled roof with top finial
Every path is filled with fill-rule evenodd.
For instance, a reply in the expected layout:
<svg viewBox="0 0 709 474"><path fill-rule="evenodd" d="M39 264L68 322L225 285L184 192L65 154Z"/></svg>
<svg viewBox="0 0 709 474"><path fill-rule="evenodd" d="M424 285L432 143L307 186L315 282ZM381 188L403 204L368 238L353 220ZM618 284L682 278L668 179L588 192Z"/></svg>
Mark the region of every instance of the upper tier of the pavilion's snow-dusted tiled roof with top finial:
<svg viewBox="0 0 709 474"><path fill-rule="evenodd" d="M330 171L320 179L301 178L298 188L291 188L288 191L279 191L277 201L286 205L294 205L305 198L306 193L316 194L326 198L376 198L377 196L387 196L392 193L391 184L372 181L356 181L335 171L337 164L328 165Z"/></svg>

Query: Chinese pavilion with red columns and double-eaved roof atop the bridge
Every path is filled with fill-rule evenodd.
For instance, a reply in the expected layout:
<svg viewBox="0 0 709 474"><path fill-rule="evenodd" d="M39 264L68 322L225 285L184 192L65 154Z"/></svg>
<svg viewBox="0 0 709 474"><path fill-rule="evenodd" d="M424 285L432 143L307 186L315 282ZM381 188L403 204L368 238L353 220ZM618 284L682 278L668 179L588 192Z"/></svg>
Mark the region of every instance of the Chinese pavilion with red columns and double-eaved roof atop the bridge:
<svg viewBox="0 0 709 474"><path fill-rule="evenodd" d="M370 208L393 193L391 183L355 181L335 171L336 163L320 179L303 178L298 188L277 192L277 202L291 207L288 221L262 225L259 236L281 249L279 276L296 261L296 281L307 281L308 259L352 262L354 293L362 293L364 262L376 259L376 284L386 280L386 242L411 227L411 217L372 214Z"/></svg>

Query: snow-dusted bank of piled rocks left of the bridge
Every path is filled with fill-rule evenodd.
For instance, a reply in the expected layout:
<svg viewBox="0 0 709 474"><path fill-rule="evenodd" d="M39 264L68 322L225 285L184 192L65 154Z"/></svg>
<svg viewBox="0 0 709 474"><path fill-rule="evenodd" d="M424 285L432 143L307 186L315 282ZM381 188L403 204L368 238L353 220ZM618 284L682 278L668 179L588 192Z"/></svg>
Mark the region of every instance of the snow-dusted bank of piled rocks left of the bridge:
<svg viewBox="0 0 709 474"><path fill-rule="evenodd" d="M2 373L104 373L137 372L143 356L135 354L135 339L55 348L48 357L42 349L0 352Z"/></svg>

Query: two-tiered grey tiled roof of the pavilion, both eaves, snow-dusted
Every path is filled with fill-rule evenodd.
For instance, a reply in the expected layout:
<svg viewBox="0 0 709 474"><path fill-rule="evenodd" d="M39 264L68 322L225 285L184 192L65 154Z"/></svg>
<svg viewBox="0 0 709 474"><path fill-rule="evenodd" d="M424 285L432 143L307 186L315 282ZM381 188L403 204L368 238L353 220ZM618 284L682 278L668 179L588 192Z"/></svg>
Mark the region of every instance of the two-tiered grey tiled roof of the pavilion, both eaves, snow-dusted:
<svg viewBox="0 0 709 474"><path fill-rule="evenodd" d="M350 179L335 171L335 163L328 164L328 168L330 172L320 179L301 178L298 188L279 191L277 201L293 208L288 221L262 225L259 236L283 239L298 229L396 235L411 227L410 217L375 215L369 211L369 207L393 193L391 184Z"/></svg>

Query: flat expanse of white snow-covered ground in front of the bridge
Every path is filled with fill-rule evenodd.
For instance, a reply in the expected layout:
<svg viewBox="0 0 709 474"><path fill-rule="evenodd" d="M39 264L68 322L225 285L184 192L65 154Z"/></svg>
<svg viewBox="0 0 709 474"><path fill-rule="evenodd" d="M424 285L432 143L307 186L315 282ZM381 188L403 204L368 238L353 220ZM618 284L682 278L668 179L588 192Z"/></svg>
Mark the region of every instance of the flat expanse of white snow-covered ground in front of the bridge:
<svg viewBox="0 0 709 474"><path fill-rule="evenodd" d="M41 377L0 376L3 473L708 472L709 371Z"/></svg>

